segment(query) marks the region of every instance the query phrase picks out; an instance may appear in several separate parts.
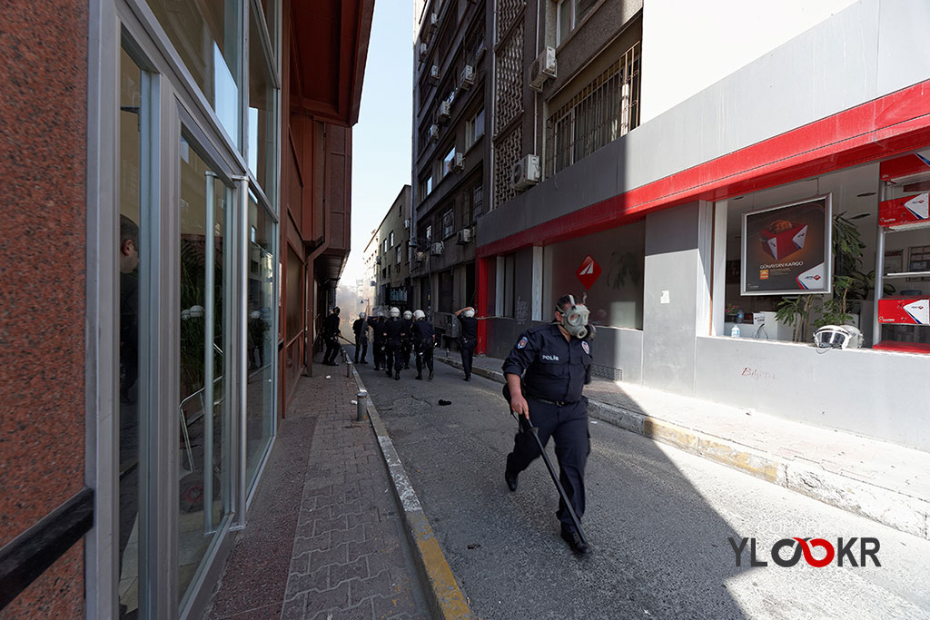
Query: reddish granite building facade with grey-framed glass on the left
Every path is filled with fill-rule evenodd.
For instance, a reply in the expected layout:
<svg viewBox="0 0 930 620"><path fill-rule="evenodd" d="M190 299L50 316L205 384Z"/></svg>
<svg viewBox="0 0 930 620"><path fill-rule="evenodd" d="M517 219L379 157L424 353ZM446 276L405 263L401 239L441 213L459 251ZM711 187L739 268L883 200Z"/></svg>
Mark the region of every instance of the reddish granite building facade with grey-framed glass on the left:
<svg viewBox="0 0 930 620"><path fill-rule="evenodd" d="M0 615L201 617L349 251L373 10L0 7Z"/></svg>

